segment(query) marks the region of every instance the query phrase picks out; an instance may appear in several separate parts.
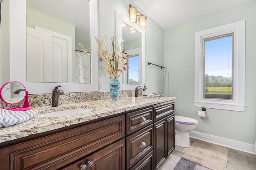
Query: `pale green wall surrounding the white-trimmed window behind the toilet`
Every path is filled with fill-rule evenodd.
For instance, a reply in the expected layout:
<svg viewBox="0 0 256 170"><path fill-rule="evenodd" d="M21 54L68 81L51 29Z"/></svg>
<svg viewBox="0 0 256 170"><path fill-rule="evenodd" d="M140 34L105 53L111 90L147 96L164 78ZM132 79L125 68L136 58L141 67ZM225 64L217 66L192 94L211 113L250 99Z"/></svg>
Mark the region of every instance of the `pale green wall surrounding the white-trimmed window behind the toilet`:
<svg viewBox="0 0 256 170"><path fill-rule="evenodd" d="M256 137L256 2L226 10L165 30L164 63L167 66L165 93L175 96L175 113L198 120L194 131L255 144ZM195 32L246 20L245 112L207 109L199 118L194 107ZM167 64L168 63L168 64Z"/></svg>

